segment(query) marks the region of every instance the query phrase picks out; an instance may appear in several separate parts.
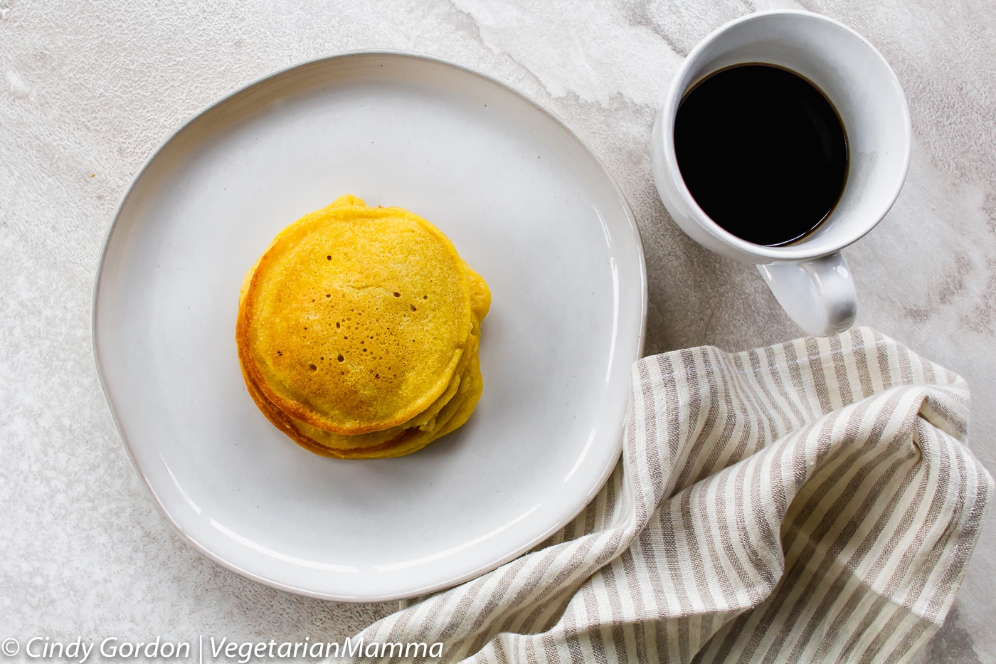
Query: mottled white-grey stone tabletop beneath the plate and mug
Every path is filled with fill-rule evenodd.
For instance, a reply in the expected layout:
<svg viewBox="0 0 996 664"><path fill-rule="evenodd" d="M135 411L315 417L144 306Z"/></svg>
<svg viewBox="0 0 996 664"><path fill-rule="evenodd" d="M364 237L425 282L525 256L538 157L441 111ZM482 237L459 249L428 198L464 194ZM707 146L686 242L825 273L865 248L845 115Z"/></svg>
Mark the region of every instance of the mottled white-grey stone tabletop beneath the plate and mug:
<svg viewBox="0 0 996 664"><path fill-rule="evenodd" d="M548 105L606 162L639 222L647 352L740 350L797 332L753 267L668 219L649 172L656 102L683 54L735 16L803 7L853 26L895 69L914 134L902 194L848 251L859 322L968 379L970 445L996 470L991 0L122 4L0 0L0 638L342 638L392 608L286 594L194 553L128 466L91 353L97 260L137 168L215 98L334 51L431 53ZM921 660L996 662L994 596L990 517Z"/></svg>

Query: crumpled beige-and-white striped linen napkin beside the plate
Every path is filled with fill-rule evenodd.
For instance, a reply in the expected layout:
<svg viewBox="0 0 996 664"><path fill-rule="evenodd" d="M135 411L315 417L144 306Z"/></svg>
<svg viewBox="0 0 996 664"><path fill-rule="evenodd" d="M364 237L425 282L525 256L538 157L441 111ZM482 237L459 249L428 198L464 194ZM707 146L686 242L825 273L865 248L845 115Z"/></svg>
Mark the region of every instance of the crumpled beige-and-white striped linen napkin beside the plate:
<svg viewBox="0 0 996 664"><path fill-rule="evenodd" d="M446 662L904 662L937 630L993 493L960 377L864 328L647 357L631 389L621 464L574 521L365 642L441 642Z"/></svg>

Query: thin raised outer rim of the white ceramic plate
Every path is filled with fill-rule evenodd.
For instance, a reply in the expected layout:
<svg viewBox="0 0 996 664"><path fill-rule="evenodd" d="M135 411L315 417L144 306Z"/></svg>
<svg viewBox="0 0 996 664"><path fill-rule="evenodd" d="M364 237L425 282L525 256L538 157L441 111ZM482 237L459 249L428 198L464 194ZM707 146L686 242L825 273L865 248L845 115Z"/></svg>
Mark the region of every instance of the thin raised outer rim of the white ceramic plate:
<svg viewBox="0 0 996 664"><path fill-rule="evenodd" d="M482 79L487 83L493 84L498 88L501 88L502 90L504 90L504 92L507 92L517 97L521 101L525 102L527 105L534 108L536 111L540 112L541 114L548 117L550 120L554 121L554 123L561 130L567 132L567 134L571 137L571 139L577 142L577 144L581 148L583 148L584 151L587 152L588 155L595 161L595 164L601 168L602 172L605 174L608 181L612 184L613 188L615 189L619 197L619 201L622 203L622 210L625 213L626 220L628 221L629 230L633 233L633 236L636 240L636 249L637 249L637 258L638 258L637 272L640 277L639 289L640 289L641 307L640 307L640 320L638 326L638 336L636 340L636 357L632 358L633 362L635 362L636 360L638 360L640 357L643 356L644 343L646 340L646 315L647 315L649 296L648 296L648 283L647 283L648 280L646 275L646 260L644 257L643 241L639 232L639 226L636 223L635 216L632 213L632 208L630 207L629 201L626 199L625 194L622 192L622 188L620 187L619 182L616 181L616 178L613 176L609 168L605 165L603 160L599 157L598 153L596 153L595 150L592 148L592 146L590 146L589 143L585 141L585 139L582 138L574 130L574 128L571 127L556 112L554 112L552 109L548 108L538 100L534 99L531 95L529 95L525 91L520 90L515 86L513 86L512 84L502 81L501 79L491 76L490 74L486 74L477 69L474 69L473 67L461 64L459 62L455 62L452 60L448 60L446 58L441 58L439 56L427 53L421 53L417 51L394 50L394 49L356 49L350 51L327 53L314 58L308 58L305 60L292 63L285 67L281 67L280 69L271 71L268 74L264 74L263 76L257 77L249 81L248 83L238 86L229 93L222 95L213 102L201 107L195 113L191 114L186 120L181 122L172 131L170 131L169 134L159 143L159 145L155 148L155 150L153 150L151 154L148 156L148 158L145 159L141 167L139 167L138 170L135 171L134 176L128 182L127 187L124 189L124 193L122 194L122 197L119 200L117 207L115 208L115 212L112 217L111 223L108 225L107 231L105 232L104 241L101 244L101 254L100 254L100 259L98 260L97 263L97 270L94 278L94 287L91 296L90 333L91 333L91 350L93 353L94 365L97 370L98 380L100 381L101 384L101 392L104 395L105 403L108 406L108 410L111 413L111 418L115 424L115 430L118 433L118 439L122 447L124 447L124 452L127 455L128 462L131 465L131 469L141 479L142 485L144 486L145 491L147 492L147 496L152 498L152 503L155 506L156 510L159 512L159 515L162 516L162 518L170 525L170 527L173 529L174 532L176 532L176 534L180 535L180 537L182 537L182 539L185 540L197 553L207 558L208 560L211 560L221 565L222 567L229 569L257 583L261 583L263 585L276 588L278 590L283 590L285 592L292 592L295 594L304 595L307 597L314 597L316 599L323 599L328 601L373 603L373 602L384 602L384 601L417 597L419 595L427 594L429 592L435 592L438 590L451 588L466 581L469 581L471 579L477 578L478 576L486 574L489 571L493 571L494 569L500 567L501 565L506 564L518 558L519 556L523 555L531 548L539 544L540 542L547 539L557 530L564 527L567 523L571 522L571 520L577 517L577 515L581 513L581 511L586 506L588 506L588 504L592 501L592 499L595 498L600 491L602 491L602 488L609 480L613 471L619 465L620 455L622 454L622 437L625 430L625 419L627 417L629 409L632 406L631 398L627 400L625 414L623 414L622 426L618 434L618 441L616 443L616 451L612 455L612 458L614 460L613 463L607 465L606 469L603 471L602 476L599 479L599 482L588 493L588 495L585 497L585 500L581 502L581 504L579 505L578 509L573 513L571 513L568 517L562 519L561 521L558 521L554 526L545 530L541 535L534 537L532 540L528 541L525 545L522 545L514 549L513 551L510 551L502 556L499 556L496 560L483 564L469 572L456 576L452 579L448 579L443 582L429 583L424 586L418 587L417 589L414 590L404 590L401 592L391 592L387 594L378 594L378 595L371 595L364 597L345 596L345 595L337 595L335 593L316 591L306 587L298 587L292 584L283 583L280 581L266 578L256 572L245 569L239 566L239 564L232 562L231 560L228 560L222 557L221 555L215 553L211 549L209 549L207 546L205 546L199 540L197 540L191 533L183 529L183 527L169 515L169 513L166 511L165 505L162 502L162 499L159 498L158 494L155 492L155 489L152 487L149 478L145 475L145 473L142 472L142 470L138 466L138 463L131 449L131 444L128 441L127 437L124 435L124 429L122 427L118 409L115 406L114 401L112 399L108 379L104 373L102 354L98 346L98 315L100 310L100 293L101 293L101 284L105 278L105 261L108 259L108 246L110 245L112 238L116 234L116 230L118 229L119 224L122 222L124 206L128 198L130 197L131 192L134 190L135 185L141 180L142 176L145 174L145 171L148 170L149 166L151 166L152 163L158 158L160 153L162 153L166 149L166 147L173 142L174 139L176 139L182 132L184 132L188 127L193 125L201 117L203 117L210 111L228 103L230 100L238 97L239 95L249 91L252 88L265 85L268 81L277 79L299 68L307 67L309 65L322 63L322 62L329 62L335 60L348 60L350 58L357 56L374 56L374 57L384 56L391 58L401 58L401 59L408 59L414 61L429 62L432 64L441 65L443 67L448 67L450 69L457 70L461 74L470 75L472 77Z"/></svg>

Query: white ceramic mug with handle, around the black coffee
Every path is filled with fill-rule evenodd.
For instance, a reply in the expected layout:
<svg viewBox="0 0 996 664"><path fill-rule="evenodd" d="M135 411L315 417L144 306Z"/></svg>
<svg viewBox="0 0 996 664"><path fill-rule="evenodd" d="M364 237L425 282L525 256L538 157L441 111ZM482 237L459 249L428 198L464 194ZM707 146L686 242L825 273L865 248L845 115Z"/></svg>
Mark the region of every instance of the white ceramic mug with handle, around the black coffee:
<svg viewBox="0 0 996 664"><path fill-rule="evenodd" d="M681 179L674 118L684 95L718 70L770 64L794 71L833 103L848 141L848 174L837 205L802 240L762 246L710 219ZM651 159L657 191L674 221L699 244L754 263L779 303L807 333L851 327L855 282L841 249L874 227L899 195L909 166L909 109L888 63L861 35L819 14L772 11L722 26L688 54L674 75L653 126Z"/></svg>

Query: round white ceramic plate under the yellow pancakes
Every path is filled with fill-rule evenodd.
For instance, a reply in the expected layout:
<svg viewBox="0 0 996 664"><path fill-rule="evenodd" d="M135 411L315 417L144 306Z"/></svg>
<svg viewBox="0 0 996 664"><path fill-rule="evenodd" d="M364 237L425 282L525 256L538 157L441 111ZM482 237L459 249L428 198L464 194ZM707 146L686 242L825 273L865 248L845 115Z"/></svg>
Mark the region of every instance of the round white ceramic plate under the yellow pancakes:
<svg viewBox="0 0 996 664"><path fill-rule="evenodd" d="M493 294L477 411L401 459L312 455L239 373L243 275L343 193L432 221ZM459 65L354 53L233 93L152 156L108 234L94 350L131 461L198 550L279 588L374 601L493 569L595 496L645 308L632 213L562 121Z"/></svg>

